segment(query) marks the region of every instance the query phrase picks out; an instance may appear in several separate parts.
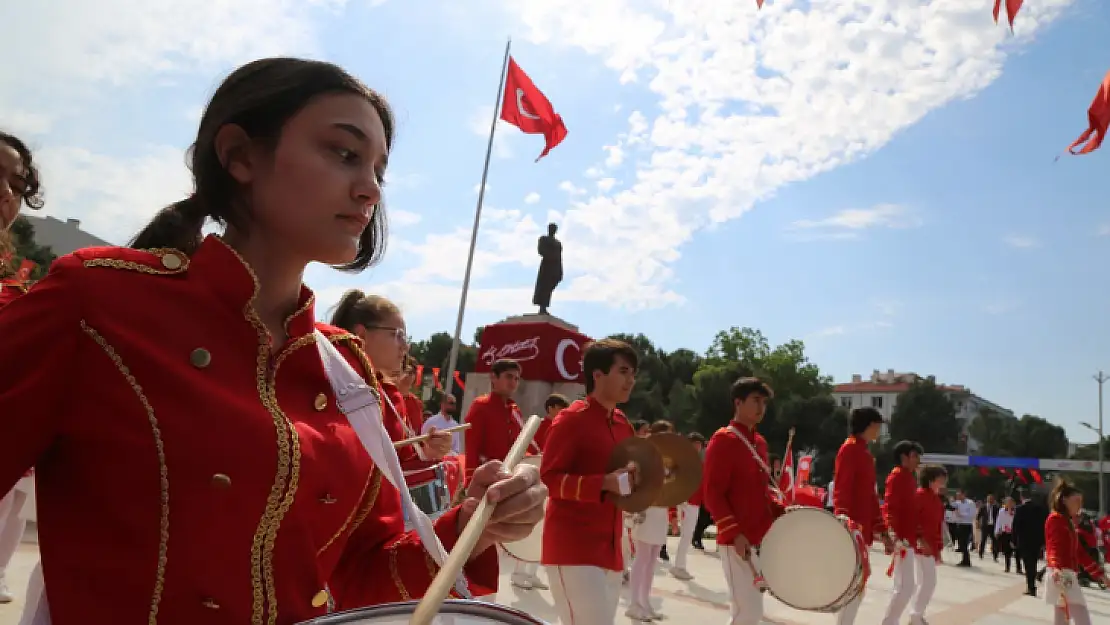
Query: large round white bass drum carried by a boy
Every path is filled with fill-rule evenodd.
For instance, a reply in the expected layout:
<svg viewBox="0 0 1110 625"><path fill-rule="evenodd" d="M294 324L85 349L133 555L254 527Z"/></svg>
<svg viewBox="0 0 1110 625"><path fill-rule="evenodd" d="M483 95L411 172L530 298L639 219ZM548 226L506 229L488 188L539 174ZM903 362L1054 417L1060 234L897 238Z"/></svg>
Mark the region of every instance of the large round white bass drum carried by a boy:
<svg viewBox="0 0 1110 625"><path fill-rule="evenodd" d="M870 574L868 546L851 530L817 507L789 507L771 524L759 546L768 591L807 612L839 612L864 592Z"/></svg>

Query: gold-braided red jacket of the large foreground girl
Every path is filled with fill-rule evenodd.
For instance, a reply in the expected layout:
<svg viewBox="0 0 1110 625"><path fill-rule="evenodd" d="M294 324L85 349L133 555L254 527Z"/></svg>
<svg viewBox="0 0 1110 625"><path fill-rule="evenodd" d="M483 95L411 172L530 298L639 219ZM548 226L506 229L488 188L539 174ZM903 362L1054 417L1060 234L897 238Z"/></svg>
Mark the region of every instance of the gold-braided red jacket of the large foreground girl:
<svg viewBox="0 0 1110 625"><path fill-rule="evenodd" d="M0 310L0 492L36 466L54 625L289 625L427 588L437 567L337 409L314 331L374 380L360 341L317 324L302 288L274 350L258 289L210 236L191 258L78 251ZM435 522L448 550L457 523ZM466 574L496 588L496 551Z"/></svg>

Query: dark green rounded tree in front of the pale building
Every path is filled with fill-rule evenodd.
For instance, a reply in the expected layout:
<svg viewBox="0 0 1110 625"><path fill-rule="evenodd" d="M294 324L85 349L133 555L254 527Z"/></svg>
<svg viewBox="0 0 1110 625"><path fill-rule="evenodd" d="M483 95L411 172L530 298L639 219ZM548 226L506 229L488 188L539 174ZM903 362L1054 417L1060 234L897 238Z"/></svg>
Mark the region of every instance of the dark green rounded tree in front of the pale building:
<svg viewBox="0 0 1110 625"><path fill-rule="evenodd" d="M891 442L917 441L930 453L957 453L960 447L956 406L932 376L898 395L889 432Z"/></svg>

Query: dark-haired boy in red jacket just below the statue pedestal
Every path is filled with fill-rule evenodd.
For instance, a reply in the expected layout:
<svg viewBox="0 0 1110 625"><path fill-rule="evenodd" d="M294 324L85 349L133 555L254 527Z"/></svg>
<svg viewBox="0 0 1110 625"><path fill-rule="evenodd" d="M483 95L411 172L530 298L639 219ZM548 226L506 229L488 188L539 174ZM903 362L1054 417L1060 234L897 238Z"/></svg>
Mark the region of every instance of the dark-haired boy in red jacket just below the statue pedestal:
<svg viewBox="0 0 1110 625"><path fill-rule="evenodd" d="M521 385L521 363L512 359L498 359L490 367L490 392L474 400L466 411L466 475L472 467L491 460L504 460L513 441L524 430L521 406L513 401ZM529 454L538 454L539 445L533 440Z"/></svg>

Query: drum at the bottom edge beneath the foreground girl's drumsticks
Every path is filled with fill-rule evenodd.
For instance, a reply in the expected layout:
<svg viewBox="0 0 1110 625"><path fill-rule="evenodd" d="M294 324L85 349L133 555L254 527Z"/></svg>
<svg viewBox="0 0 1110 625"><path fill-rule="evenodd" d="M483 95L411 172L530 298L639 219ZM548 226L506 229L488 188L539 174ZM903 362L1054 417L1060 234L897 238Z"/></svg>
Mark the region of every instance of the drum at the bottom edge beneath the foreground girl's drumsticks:
<svg viewBox="0 0 1110 625"><path fill-rule="evenodd" d="M329 614L301 625L408 625L417 602L387 603ZM434 625L546 625L527 614L492 603L451 599L443 602Z"/></svg>

